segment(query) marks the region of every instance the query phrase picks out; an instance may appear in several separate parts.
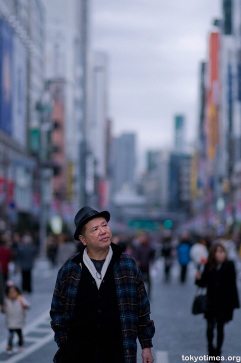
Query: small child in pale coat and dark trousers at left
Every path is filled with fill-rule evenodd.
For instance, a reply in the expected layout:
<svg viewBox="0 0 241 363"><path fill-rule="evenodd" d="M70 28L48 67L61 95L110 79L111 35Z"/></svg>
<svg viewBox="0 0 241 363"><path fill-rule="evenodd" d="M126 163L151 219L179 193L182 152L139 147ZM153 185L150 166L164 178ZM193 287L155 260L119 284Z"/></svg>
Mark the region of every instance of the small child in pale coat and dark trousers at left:
<svg viewBox="0 0 241 363"><path fill-rule="evenodd" d="M23 349L23 334L22 328L25 320L25 310L29 309L28 301L21 295L17 286L10 285L6 289L7 298L5 299L2 312L6 314L6 326L9 329L9 339L7 352L13 351L14 333L18 335L19 349Z"/></svg>

